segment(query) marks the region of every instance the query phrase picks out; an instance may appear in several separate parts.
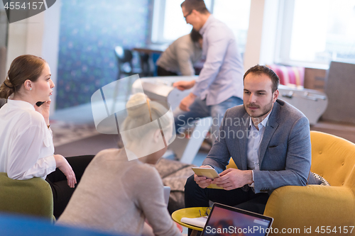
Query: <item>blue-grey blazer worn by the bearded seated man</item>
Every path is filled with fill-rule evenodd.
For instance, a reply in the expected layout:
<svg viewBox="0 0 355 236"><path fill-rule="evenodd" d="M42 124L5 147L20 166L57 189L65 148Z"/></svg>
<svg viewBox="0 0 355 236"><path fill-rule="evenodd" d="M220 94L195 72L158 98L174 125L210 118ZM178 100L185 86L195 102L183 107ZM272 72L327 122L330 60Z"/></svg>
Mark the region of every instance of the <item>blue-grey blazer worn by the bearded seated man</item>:
<svg viewBox="0 0 355 236"><path fill-rule="evenodd" d="M248 169L249 118L243 105L229 108L219 137L202 164L211 165L220 173L233 158L238 169ZM271 194L287 185L305 186L311 166L310 123L305 115L285 101L275 101L258 159L260 170L254 170L255 193Z"/></svg>

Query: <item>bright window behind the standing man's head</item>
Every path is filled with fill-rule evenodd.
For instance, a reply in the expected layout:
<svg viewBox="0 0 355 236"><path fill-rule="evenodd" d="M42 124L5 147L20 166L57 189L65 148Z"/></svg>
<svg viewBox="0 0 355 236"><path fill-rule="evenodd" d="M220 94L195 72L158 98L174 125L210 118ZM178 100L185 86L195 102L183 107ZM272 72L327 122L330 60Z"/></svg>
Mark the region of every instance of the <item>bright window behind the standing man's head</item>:
<svg viewBox="0 0 355 236"><path fill-rule="evenodd" d="M171 43L190 33L192 26L182 16L183 0L155 0L153 9L152 43ZM204 0L207 9L233 30L244 52L249 26L251 0Z"/></svg>

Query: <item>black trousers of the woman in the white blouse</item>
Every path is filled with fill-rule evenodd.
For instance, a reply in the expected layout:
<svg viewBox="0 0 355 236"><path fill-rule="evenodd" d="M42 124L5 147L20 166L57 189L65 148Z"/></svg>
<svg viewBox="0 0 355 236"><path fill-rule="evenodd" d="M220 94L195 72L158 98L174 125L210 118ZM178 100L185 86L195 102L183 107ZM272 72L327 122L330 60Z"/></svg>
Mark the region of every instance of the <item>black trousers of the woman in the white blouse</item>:
<svg viewBox="0 0 355 236"><path fill-rule="evenodd" d="M85 168L94 158L94 155L86 155L86 156L77 156L77 157L66 157L67 162L69 162L72 170L75 173L75 177L77 179L77 184L79 184L80 179L82 179L82 175L84 174ZM50 188L53 193L53 203L54 209L53 214L55 218L59 218L62 215L67 203L74 193L77 184L75 184L75 188L72 189L67 185L67 177L60 171L60 169L55 169L55 172L48 174L45 179L48 184L50 184Z"/></svg>

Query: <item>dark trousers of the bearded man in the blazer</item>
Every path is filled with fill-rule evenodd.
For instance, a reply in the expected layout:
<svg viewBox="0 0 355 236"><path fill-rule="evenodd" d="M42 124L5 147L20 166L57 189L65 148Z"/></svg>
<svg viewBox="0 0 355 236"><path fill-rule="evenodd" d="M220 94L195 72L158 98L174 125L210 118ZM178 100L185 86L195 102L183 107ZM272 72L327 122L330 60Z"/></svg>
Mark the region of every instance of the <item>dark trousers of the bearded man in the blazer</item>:
<svg viewBox="0 0 355 236"><path fill-rule="evenodd" d="M254 193L251 188L248 191L233 189L201 189L190 176L185 184L185 208L209 206L209 201L234 206L243 210L263 214L268 201L268 193ZM190 235L189 230L189 235Z"/></svg>

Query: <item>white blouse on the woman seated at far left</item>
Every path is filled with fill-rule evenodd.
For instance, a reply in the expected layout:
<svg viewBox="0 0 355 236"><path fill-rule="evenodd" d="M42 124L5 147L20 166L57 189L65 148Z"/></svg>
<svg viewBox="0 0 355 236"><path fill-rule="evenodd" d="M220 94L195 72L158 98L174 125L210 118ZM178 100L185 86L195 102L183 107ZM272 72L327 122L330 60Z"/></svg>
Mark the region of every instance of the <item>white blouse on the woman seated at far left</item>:
<svg viewBox="0 0 355 236"><path fill-rule="evenodd" d="M55 171L53 134L26 101L8 99L0 109L0 172L11 179L42 177Z"/></svg>

